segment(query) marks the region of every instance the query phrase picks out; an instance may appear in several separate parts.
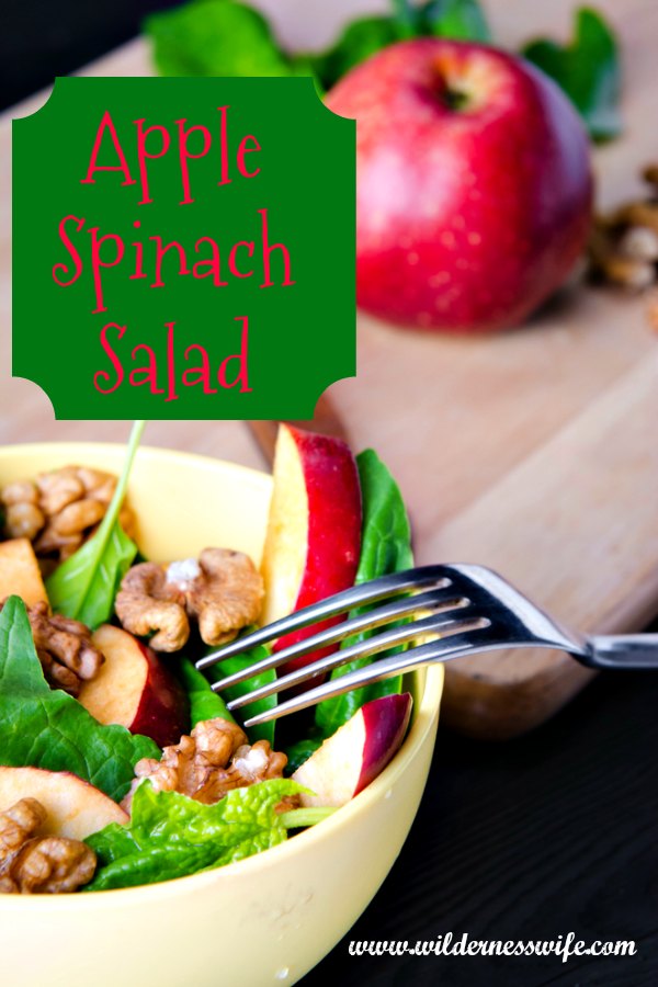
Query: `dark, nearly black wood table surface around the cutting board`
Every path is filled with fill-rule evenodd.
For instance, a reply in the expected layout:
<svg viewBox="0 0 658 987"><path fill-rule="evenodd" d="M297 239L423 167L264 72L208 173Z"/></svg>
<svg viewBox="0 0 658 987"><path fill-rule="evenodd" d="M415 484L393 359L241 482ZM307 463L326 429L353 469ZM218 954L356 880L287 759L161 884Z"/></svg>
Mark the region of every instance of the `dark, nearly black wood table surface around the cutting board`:
<svg viewBox="0 0 658 987"><path fill-rule="evenodd" d="M7 3L3 104L106 52L136 32L141 12L164 5ZM649 673L602 674L551 723L504 744L440 729L426 795L392 873L304 987L658 984L657 755L658 676ZM413 943L447 932L502 941L574 932L588 942L635 940L637 953L561 963L348 951L351 939Z"/></svg>

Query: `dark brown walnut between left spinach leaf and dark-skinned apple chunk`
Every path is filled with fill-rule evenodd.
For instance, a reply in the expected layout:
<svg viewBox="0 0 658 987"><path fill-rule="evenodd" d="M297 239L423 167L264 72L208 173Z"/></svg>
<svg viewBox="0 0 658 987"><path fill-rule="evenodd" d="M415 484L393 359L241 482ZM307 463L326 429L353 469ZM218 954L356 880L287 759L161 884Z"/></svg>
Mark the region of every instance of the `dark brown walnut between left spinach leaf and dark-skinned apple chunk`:
<svg viewBox="0 0 658 987"><path fill-rule="evenodd" d="M0 610L3 605L0 601ZM77 696L105 660L91 642L91 631L80 621L49 613L43 602L29 606L27 617L46 681Z"/></svg>

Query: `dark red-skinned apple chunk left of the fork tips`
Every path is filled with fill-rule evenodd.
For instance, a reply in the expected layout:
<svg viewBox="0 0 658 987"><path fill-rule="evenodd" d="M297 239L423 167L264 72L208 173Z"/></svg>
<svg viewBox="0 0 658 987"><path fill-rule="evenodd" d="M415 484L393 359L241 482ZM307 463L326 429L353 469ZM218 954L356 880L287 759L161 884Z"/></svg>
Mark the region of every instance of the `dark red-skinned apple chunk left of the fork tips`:
<svg viewBox="0 0 658 987"><path fill-rule="evenodd" d="M189 726L184 689L158 658L121 627L103 624L92 642L105 657L99 673L78 696L99 723L117 723L145 734L158 747L178 744Z"/></svg>

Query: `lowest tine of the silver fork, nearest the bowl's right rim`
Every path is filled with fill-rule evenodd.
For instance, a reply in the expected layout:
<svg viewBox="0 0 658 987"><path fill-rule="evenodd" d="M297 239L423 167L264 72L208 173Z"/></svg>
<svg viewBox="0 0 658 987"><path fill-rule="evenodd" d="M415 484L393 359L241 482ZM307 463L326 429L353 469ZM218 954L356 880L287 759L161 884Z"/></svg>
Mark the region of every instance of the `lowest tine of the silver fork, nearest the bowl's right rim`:
<svg viewBox="0 0 658 987"><path fill-rule="evenodd" d="M491 624L486 617L481 620L480 628L481 631L491 628ZM330 679L328 682L316 685L315 689L309 689L307 692L303 692L285 703L279 703L272 710L251 716L245 721L245 727L268 723L270 719L279 719L281 716L287 716L290 713L297 713L299 710L315 706L316 703L322 700L333 699L343 692L350 692L352 689L359 689L371 682L390 679L399 672L409 671L422 665L430 665L434 661L447 661L452 658L457 658L460 655L509 646L509 642L504 637L498 638L494 634L483 635L481 644L474 646L473 632L480 628L472 628L464 633L455 634L454 637L439 638L438 640L418 645L415 648L409 648L407 651L392 655L389 658L373 661L372 665L367 665L365 668L358 668L354 671L347 672L344 676Z"/></svg>

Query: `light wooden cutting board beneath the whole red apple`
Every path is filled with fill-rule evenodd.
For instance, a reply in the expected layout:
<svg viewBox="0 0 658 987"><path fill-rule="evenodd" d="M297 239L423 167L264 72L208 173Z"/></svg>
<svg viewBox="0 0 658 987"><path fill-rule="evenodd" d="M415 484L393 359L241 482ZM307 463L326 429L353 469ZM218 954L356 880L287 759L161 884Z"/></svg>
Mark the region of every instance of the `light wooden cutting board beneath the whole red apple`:
<svg viewBox="0 0 658 987"><path fill-rule="evenodd" d="M259 5L299 46L326 41L345 11L381 7L316 3L311 23L299 2ZM638 191L639 166L658 158L658 7L598 5L619 29L626 67L625 136L595 157L599 201L610 205ZM510 46L542 32L564 36L572 7L487 4L496 36ZM135 42L86 71L146 75L148 54ZM0 144L4 156L7 117ZM54 422L36 387L9 378L8 182L0 208L0 439L123 438L116 422ZM571 288L523 330L475 340L360 319L358 377L334 385L331 398L353 446L377 449L399 479L419 563L492 566L583 631L639 629L658 613L658 337L644 308L640 298ZM150 442L260 462L239 422L150 429ZM445 721L491 738L540 724L590 676L538 650L462 658L447 671Z"/></svg>

